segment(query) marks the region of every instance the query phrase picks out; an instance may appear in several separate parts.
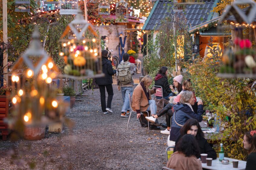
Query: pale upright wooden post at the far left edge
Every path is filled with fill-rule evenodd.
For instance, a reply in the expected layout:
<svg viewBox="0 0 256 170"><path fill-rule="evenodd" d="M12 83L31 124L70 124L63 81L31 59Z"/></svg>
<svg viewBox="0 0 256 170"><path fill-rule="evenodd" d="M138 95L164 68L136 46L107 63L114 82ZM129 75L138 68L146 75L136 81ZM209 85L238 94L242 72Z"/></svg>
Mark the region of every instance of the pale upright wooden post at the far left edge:
<svg viewBox="0 0 256 170"><path fill-rule="evenodd" d="M7 39L7 0L3 0L3 40L4 43L7 44L8 43L8 39ZM4 70L4 84L8 85L8 53L7 53L7 49L5 50L4 54L3 54L3 66Z"/></svg>

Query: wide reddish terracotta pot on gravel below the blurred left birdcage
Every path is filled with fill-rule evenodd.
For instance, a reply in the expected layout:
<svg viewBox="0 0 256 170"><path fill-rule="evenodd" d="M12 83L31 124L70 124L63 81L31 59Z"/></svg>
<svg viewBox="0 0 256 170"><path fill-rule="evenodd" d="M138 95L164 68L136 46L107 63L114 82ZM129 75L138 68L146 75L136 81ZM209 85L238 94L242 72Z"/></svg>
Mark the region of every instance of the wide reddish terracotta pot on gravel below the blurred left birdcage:
<svg viewBox="0 0 256 170"><path fill-rule="evenodd" d="M45 125L26 126L24 128L24 139L41 140L44 138Z"/></svg>

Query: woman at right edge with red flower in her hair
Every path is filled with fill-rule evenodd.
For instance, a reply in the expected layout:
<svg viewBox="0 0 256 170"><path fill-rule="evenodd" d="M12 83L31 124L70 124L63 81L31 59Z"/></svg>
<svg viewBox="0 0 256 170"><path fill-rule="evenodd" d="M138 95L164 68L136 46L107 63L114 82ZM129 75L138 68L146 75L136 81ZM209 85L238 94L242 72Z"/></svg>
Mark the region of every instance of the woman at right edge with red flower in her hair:
<svg viewBox="0 0 256 170"><path fill-rule="evenodd" d="M256 131L246 132L243 144L244 148L249 150L245 170L254 170L256 167Z"/></svg>

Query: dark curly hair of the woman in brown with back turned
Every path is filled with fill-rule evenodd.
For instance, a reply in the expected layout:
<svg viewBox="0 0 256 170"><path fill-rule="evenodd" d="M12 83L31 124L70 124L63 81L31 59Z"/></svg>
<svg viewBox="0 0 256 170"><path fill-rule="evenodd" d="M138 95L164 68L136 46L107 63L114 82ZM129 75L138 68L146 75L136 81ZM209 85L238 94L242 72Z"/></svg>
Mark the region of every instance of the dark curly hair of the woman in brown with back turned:
<svg viewBox="0 0 256 170"><path fill-rule="evenodd" d="M186 157L196 156L197 158L200 156L199 146L196 142L196 139L191 134L185 134L180 138L176 145L176 150L179 153L185 154Z"/></svg>

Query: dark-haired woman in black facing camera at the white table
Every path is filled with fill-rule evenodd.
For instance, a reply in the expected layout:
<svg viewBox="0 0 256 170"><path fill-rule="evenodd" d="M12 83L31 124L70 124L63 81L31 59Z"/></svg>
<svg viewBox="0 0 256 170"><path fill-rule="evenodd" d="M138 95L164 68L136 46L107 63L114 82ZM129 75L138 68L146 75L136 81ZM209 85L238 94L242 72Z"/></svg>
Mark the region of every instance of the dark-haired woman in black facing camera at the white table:
<svg viewBox="0 0 256 170"><path fill-rule="evenodd" d="M215 150L212 149L212 146L210 146L207 140L203 137L204 136L203 131L201 130L201 127L196 119L189 119L188 121L186 121L184 126L180 129L180 136L176 140L175 146L180 140L180 138L185 134L191 134L196 138L196 141L199 145L200 154L206 153L207 158L217 159ZM176 147L174 147L173 152L175 151L176 151ZM199 157L200 155L197 158Z"/></svg>

